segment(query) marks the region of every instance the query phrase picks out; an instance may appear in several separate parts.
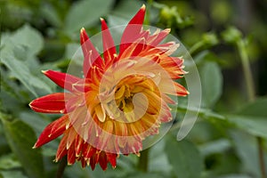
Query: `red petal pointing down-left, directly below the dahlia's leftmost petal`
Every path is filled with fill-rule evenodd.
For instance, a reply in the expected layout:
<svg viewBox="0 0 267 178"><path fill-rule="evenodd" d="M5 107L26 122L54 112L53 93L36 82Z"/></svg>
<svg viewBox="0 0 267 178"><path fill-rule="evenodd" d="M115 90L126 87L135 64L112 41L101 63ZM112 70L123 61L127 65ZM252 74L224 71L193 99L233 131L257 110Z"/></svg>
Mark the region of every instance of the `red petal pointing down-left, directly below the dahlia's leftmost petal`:
<svg viewBox="0 0 267 178"><path fill-rule="evenodd" d="M47 142L51 142L57 137L59 137L61 134L64 133L66 130L66 123L69 122L68 115L64 115L57 120L53 121L50 125L47 125L44 128L44 131L42 134L40 134L36 144L33 148L38 148L42 145L44 145Z"/></svg>

